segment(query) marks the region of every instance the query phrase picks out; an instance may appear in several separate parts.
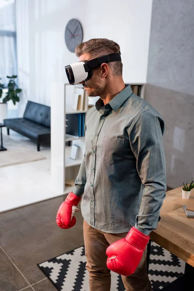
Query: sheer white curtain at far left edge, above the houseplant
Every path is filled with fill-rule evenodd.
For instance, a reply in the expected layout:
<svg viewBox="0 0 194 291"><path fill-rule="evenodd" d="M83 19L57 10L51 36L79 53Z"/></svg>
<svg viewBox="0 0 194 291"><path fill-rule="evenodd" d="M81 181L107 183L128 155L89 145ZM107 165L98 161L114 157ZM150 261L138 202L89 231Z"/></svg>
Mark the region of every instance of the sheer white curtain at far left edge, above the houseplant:
<svg viewBox="0 0 194 291"><path fill-rule="evenodd" d="M0 78L7 85L6 76L17 75L16 7L15 1L0 0Z"/></svg>

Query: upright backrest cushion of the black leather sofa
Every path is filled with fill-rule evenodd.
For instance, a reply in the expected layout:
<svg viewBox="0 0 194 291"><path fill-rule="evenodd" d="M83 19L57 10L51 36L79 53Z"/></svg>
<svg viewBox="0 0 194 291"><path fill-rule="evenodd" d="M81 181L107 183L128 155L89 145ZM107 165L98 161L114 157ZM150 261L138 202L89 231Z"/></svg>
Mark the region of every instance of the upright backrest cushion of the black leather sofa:
<svg viewBox="0 0 194 291"><path fill-rule="evenodd" d="M28 101L23 118L50 127L50 107Z"/></svg>

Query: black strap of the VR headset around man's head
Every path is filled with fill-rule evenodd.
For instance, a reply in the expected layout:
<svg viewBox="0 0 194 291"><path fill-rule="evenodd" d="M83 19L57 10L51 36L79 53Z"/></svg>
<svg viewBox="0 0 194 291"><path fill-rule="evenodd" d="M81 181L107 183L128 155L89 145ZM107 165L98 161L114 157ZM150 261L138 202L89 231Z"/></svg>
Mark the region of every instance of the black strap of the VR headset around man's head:
<svg viewBox="0 0 194 291"><path fill-rule="evenodd" d="M111 63L111 62L116 62L116 61L121 61L121 52L116 52L116 53L111 53L90 61L86 61L86 63L83 65L85 68L85 71L88 72L89 70L96 68L103 63Z"/></svg>

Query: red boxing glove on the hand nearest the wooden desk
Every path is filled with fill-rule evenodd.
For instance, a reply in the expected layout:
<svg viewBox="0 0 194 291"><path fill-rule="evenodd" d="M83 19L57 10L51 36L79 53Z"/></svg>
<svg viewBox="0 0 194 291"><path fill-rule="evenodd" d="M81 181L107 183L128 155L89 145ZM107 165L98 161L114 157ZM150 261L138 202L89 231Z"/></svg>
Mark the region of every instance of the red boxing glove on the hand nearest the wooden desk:
<svg viewBox="0 0 194 291"><path fill-rule="evenodd" d="M148 242L149 235L143 234L133 226L126 238L113 242L107 248L107 267L120 275L133 274L142 259Z"/></svg>

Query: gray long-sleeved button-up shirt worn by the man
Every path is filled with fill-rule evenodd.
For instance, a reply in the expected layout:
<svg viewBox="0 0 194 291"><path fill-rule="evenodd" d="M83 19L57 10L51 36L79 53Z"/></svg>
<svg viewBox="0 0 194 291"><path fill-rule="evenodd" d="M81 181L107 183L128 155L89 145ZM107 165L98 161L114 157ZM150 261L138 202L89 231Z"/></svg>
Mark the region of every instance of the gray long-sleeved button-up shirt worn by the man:
<svg viewBox="0 0 194 291"><path fill-rule="evenodd" d="M85 221L101 231L148 235L156 229L166 193L164 121L128 85L86 116L86 151L73 193Z"/></svg>

